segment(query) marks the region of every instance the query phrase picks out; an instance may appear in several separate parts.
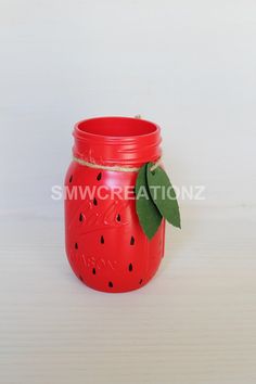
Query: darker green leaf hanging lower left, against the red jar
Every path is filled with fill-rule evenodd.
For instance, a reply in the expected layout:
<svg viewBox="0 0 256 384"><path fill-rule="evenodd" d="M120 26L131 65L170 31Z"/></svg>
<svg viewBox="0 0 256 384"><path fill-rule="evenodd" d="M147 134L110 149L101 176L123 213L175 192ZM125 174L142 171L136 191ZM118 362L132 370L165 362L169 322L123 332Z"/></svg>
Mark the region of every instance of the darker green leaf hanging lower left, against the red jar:
<svg viewBox="0 0 256 384"><path fill-rule="evenodd" d="M148 239L152 239L162 221L162 215L154 202L146 183L146 164L140 168L136 182L136 210L141 228Z"/></svg>

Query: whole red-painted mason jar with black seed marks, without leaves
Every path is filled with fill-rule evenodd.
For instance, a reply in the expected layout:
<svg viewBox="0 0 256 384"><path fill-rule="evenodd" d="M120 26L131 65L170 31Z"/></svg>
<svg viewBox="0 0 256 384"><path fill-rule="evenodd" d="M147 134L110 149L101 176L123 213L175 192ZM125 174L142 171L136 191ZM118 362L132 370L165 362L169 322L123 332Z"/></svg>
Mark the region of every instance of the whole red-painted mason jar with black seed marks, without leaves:
<svg viewBox="0 0 256 384"><path fill-rule="evenodd" d="M66 254L76 276L105 292L141 287L164 254L165 222L149 240L136 212L138 168L161 157L153 123L99 117L75 125L65 178Z"/></svg>

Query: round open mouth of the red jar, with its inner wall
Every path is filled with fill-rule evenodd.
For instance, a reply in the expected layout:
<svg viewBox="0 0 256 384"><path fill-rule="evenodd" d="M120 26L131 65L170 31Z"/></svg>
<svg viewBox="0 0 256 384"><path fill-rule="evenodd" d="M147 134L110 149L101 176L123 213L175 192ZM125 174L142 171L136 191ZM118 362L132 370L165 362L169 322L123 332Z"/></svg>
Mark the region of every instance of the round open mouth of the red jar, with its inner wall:
<svg viewBox="0 0 256 384"><path fill-rule="evenodd" d="M95 138L136 138L155 135L159 130L154 123L135 117L93 117L75 125L75 135L80 138L94 136Z"/></svg>

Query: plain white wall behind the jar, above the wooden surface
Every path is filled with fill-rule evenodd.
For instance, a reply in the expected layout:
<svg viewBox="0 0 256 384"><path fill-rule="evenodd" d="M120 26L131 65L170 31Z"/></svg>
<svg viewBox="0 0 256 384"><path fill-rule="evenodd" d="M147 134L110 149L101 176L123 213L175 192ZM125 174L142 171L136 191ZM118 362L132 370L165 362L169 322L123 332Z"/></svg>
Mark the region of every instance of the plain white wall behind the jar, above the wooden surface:
<svg viewBox="0 0 256 384"><path fill-rule="evenodd" d="M138 113L177 185L255 204L255 16L253 0L1 0L1 212L61 215L74 123Z"/></svg>

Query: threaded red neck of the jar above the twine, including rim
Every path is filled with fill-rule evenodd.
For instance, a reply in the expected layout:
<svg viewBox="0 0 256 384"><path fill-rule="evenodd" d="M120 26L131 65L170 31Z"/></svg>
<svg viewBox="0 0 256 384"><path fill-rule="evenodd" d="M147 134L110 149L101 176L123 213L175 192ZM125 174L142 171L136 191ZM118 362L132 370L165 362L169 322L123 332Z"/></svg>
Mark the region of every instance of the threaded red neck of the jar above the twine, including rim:
<svg viewBox="0 0 256 384"><path fill-rule="evenodd" d="M75 157L106 166L136 166L162 155L161 129L154 123L131 117L95 117L74 128Z"/></svg>

